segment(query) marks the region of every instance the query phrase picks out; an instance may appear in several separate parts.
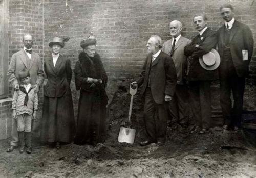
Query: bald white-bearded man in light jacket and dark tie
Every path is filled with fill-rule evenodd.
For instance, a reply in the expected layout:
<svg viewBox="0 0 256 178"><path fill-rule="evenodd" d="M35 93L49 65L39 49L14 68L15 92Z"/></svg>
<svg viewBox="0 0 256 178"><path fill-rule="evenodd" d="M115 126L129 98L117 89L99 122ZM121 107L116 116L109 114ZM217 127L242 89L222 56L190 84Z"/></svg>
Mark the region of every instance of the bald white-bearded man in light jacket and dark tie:
<svg viewBox="0 0 256 178"><path fill-rule="evenodd" d="M169 115L173 117L174 123L186 126L189 118L188 88L186 84L187 56L184 54L184 47L191 43L191 40L181 36L182 24L178 20L170 22L170 35L172 39L163 43L162 51L170 55L176 67L177 85L172 101L167 105Z"/></svg>

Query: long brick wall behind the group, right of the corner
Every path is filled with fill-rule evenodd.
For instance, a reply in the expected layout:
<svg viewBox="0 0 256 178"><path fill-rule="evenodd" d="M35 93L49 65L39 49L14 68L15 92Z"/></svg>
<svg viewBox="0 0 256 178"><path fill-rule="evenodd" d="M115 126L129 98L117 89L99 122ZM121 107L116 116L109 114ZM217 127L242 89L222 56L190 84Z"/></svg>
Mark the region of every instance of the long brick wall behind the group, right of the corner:
<svg viewBox="0 0 256 178"><path fill-rule="evenodd" d="M131 77L139 72L146 56L146 41L153 34L163 40L170 38L168 24L178 19L183 23L182 34L195 34L192 17L204 12L208 26L217 30L223 20L219 7L229 1L202 0L77 0L44 1L45 46L53 36L67 35L71 40L63 49L74 66L80 52L79 43L92 31L97 37L97 49L111 78ZM236 19L249 25L256 41L256 2L232 1ZM254 3L254 4L253 4ZM256 67L255 53L251 70ZM250 72L249 82L255 82L256 71Z"/></svg>

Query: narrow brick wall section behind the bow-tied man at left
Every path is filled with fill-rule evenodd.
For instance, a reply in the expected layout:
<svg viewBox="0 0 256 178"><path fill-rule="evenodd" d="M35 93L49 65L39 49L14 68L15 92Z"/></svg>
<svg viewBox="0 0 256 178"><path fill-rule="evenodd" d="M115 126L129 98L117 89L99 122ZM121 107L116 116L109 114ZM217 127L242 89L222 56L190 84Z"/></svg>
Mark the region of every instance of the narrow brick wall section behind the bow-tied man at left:
<svg viewBox="0 0 256 178"><path fill-rule="evenodd" d="M10 0L9 1L9 61L12 55L24 47L24 34L34 36L33 50L41 56L44 54L44 29L42 1ZM11 97L11 87L9 89ZM39 103L42 103L42 90L39 93Z"/></svg>

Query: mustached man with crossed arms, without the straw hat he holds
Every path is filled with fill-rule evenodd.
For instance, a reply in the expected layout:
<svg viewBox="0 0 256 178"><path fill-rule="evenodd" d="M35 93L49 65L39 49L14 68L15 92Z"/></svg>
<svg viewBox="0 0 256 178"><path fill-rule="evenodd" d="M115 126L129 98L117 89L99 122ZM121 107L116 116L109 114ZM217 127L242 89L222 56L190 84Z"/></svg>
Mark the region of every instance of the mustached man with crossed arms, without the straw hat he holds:
<svg viewBox="0 0 256 178"><path fill-rule="evenodd" d="M193 21L199 34L184 49L185 55L191 56L187 80L195 126L190 133L199 131L199 134L204 134L210 126L211 118L210 84L212 80L218 79L218 70L204 69L199 63L199 57L216 46L217 34L207 28L204 14L196 15Z"/></svg>

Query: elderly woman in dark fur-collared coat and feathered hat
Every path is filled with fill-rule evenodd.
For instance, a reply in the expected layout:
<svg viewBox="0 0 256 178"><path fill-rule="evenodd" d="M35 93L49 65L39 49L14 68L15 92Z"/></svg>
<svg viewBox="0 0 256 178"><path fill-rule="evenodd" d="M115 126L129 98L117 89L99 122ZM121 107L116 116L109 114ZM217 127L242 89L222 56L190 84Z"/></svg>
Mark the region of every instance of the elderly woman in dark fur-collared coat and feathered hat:
<svg viewBox="0 0 256 178"><path fill-rule="evenodd" d="M106 136L106 83L108 77L96 53L96 39L89 37L80 43L83 51L75 65L76 89L80 90L77 132L74 143L95 146Z"/></svg>

